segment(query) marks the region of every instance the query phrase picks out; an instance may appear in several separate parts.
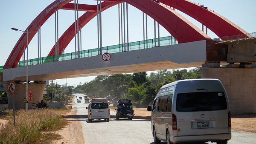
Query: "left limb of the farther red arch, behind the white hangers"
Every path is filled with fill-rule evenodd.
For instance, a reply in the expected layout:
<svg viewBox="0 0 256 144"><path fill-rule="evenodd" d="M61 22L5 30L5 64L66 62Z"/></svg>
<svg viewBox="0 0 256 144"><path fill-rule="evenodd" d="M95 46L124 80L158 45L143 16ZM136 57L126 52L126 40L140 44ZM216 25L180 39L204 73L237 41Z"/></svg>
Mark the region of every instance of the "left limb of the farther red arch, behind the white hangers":
<svg viewBox="0 0 256 144"><path fill-rule="evenodd" d="M102 12L119 2L113 3L113 2L102 2ZM74 4L73 4L74 5ZM97 9L97 6L95 6ZM79 8L79 7L78 7ZM79 8L80 9L80 8ZM87 9L85 7L85 9ZM81 17L79 17L79 27L84 27L90 20L93 19L93 17L97 16L97 10L96 12L86 12ZM77 22L77 21L76 21ZM77 33L77 31L76 31ZM71 24L71 26L61 35L59 38L59 55L61 55L61 50L66 49L67 45L70 43L70 41L75 37L75 24ZM55 55L55 45L52 47L51 51L49 52L48 56Z"/></svg>

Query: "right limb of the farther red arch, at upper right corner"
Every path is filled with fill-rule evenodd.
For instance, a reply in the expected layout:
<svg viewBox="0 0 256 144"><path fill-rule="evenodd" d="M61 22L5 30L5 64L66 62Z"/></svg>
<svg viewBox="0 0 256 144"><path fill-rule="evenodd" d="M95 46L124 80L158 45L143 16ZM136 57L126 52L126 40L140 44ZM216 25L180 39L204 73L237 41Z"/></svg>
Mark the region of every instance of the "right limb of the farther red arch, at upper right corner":
<svg viewBox="0 0 256 144"><path fill-rule="evenodd" d="M191 2L189 0L159 0L161 3L171 6L179 11L188 14L193 17L198 22L202 23L204 26L209 28L218 37L222 38L224 36L232 35L242 35L246 34L243 29L241 29L236 24L232 23L227 18L221 16L217 12L213 12L207 7L198 5L197 3Z"/></svg>

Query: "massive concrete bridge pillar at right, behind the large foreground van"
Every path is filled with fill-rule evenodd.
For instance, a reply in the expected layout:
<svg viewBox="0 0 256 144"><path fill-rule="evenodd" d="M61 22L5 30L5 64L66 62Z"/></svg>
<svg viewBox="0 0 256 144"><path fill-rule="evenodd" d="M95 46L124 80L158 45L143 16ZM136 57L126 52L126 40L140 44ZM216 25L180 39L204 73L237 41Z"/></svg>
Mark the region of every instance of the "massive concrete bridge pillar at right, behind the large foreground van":
<svg viewBox="0 0 256 144"><path fill-rule="evenodd" d="M217 67L208 63L201 67L204 78L217 78L224 85L232 115L256 113L256 68L252 68L253 64L242 67L234 64Z"/></svg>

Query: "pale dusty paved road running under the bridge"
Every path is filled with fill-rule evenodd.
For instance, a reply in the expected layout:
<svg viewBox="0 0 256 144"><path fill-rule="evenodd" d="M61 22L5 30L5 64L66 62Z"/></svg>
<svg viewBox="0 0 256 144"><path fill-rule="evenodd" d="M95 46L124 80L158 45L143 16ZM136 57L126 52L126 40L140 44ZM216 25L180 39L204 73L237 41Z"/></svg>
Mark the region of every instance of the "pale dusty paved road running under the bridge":
<svg viewBox="0 0 256 144"><path fill-rule="evenodd" d="M76 94L77 97L82 96ZM75 99L76 102L76 99ZM81 122L81 129L84 134L86 144L154 144L151 133L151 123L145 119L120 119L116 121L115 112L111 111L110 121L96 120L88 122L87 109L88 104L74 104L77 108L77 117ZM162 142L161 144L166 144ZM189 143L195 144L195 143ZM200 143L216 144L216 143ZM256 144L256 134L247 132L232 132L232 138L228 144Z"/></svg>

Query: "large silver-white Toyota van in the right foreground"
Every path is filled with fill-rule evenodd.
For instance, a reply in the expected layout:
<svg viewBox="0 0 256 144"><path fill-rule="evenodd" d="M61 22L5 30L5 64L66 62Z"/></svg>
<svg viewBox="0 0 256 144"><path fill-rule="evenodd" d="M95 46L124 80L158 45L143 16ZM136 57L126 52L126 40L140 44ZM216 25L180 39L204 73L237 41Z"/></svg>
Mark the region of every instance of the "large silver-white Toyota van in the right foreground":
<svg viewBox="0 0 256 144"><path fill-rule="evenodd" d="M207 142L227 144L231 113L218 79L189 79L161 87L154 99L151 130L155 144Z"/></svg>

